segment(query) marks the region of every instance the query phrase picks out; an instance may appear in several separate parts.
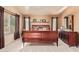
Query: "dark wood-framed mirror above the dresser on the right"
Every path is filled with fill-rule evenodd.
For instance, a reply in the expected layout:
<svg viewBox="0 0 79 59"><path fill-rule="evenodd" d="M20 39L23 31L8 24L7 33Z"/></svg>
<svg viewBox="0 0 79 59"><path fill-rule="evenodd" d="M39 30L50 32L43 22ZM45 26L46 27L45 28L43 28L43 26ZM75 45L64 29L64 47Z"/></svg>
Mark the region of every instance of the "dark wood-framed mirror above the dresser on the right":
<svg viewBox="0 0 79 59"><path fill-rule="evenodd" d="M70 31L74 31L74 16L69 15L64 17L64 27Z"/></svg>

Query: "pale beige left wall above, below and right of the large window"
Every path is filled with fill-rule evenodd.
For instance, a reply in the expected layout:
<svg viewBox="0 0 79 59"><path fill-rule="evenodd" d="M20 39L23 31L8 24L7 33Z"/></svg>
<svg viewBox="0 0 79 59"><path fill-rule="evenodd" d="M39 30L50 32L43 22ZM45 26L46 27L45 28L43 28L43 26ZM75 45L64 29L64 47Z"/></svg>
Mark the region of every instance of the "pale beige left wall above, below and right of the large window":
<svg viewBox="0 0 79 59"><path fill-rule="evenodd" d="M14 6L3 6L6 10L8 10L8 11L10 11L10 12L12 12L12 13L15 13L15 14L18 14L18 15L20 15L20 29L19 29L19 31L21 31L22 30L22 23L21 23L21 21L22 21L22 15L16 10L16 8L14 7ZM12 33L12 34L8 34L8 35L5 35L5 45L7 45L7 44L9 44L9 43L11 43L11 42L13 42L14 41L14 34Z"/></svg>

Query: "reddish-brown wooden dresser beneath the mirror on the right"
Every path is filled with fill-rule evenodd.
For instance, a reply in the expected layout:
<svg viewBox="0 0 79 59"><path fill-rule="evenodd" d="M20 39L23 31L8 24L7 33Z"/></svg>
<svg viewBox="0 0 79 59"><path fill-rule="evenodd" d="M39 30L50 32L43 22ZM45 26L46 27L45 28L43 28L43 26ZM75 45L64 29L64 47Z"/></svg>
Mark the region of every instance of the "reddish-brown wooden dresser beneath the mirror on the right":
<svg viewBox="0 0 79 59"><path fill-rule="evenodd" d="M64 32L65 38L62 38L62 41L67 43L69 46L78 45L78 33L77 32ZM64 36L63 36L64 37Z"/></svg>

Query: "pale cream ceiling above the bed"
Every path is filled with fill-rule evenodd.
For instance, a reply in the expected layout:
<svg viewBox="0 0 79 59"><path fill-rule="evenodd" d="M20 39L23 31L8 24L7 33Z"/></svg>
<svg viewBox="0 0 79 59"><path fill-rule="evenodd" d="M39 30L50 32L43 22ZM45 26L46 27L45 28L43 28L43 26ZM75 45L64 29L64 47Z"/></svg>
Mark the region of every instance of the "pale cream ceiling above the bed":
<svg viewBox="0 0 79 59"><path fill-rule="evenodd" d="M15 7L23 15L57 15L63 12L65 6L16 6Z"/></svg>

